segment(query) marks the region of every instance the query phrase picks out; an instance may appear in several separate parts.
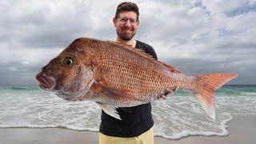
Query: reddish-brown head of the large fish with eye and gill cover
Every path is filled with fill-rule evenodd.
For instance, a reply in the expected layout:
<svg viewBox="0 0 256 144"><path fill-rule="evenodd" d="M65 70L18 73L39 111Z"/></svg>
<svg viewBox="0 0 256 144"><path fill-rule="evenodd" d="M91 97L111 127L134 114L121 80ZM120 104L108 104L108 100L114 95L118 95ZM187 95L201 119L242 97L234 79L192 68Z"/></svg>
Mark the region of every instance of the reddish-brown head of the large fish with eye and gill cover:
<svg viewBox="0 0 256 144"><path fill-rule="evenodd" d="M73 42L36 75L38 86L50 90L67 101L79 100L94 82L86 47Z"/></svg>

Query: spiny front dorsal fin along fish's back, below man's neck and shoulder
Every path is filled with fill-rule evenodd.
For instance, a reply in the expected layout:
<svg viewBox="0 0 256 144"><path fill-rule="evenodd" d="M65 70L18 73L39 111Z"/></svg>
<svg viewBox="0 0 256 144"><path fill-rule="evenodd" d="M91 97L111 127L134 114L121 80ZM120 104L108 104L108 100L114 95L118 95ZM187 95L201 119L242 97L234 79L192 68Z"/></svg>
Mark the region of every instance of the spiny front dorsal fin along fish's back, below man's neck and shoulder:
<svg viewBox="0 0 256 144"><path fill-rule="evenodd" d="M149 58L151 60L156 60L155 58L153 58L152 55L147 54L144 50L136 49L131 45L127 45L127 44L124 44L122 42L113 42L113 41L107 41L107 42L113 43L113 44L118 45L118 46L122 46L122 47L124 47L128 50L134 51L135 53L142 55L142 57L144 57L144 58Z"/></svg>

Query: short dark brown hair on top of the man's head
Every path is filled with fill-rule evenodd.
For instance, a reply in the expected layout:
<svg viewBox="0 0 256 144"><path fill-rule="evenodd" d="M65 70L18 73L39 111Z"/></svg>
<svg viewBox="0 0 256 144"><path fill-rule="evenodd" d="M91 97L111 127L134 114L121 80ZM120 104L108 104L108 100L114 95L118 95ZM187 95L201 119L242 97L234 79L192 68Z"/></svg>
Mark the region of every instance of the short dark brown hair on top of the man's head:
<svg viewBox="0 0 256 144"><path fill-rule="evenodd" d="M118 5L117 10L115 12L115 17L118 18L119 14L124 11L134 11L134 13L137 14L137 20L138 20L138 6L134 2L122 2Z"/></svg>

